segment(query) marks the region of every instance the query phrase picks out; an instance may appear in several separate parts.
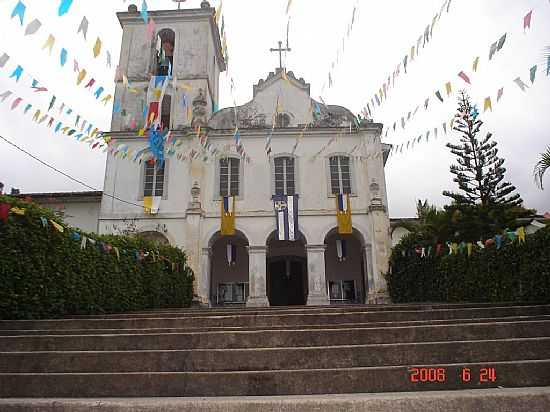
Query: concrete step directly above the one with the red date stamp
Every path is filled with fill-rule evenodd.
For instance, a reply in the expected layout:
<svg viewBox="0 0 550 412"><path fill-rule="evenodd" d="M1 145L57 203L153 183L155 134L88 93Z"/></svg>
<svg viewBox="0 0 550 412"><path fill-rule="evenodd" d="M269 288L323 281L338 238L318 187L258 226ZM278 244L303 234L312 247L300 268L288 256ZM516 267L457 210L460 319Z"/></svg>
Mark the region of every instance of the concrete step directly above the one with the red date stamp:
<svg viewBox="0 0 550 412"><path fill-rule="evenodd" d="M545 359L550 337L296 348L0 352L0 373L349 369Z"/></svg>

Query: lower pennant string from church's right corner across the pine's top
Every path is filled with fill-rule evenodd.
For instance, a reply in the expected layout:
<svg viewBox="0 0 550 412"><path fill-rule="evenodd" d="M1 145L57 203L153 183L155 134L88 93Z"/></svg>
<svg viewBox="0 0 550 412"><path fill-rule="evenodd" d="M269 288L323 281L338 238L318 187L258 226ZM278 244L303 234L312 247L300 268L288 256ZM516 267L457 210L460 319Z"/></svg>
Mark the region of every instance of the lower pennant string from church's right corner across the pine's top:
<svg viewBox="0 0 550 412"><path fill-rule="evenodd" d="M537 74L537 70L538 69L538 65L534 65L531 67L531 69L529 69L529 78L530 78L530 81L531 81L531 85L533 85L535 83L535 79L536 79L536 74ZM546 70L546 75L547 76L550 76L550 59L548 61L548 67L547 67L547 70ZM520 90L522 92L526 92L527 89L529 89L529 85L526 84L521 76L518 76L516 77L516 79L513 81L514 84L516 84ZM503 98L504 96L504 87L498 89L498 91L496 92L496 102L500 102L500 100ZM473 106L473 110L476 111L477 114L479 114L479 109L478 107L481 107L481 105L474 105ZM496 108L496 106L493 106L493 98L492 96L488 96L486 97L484 100L483 100L483 112L493 112L494 108ZM443 130L444 134L447 135L447 130L449 131L452 131L453 130L453 125L454 125L454 120L455 120L455 116L453 116L453 118L450 120L450 121L445 121L442 123L442 127L441 129L439 128L439 126L437 127L434 127L433 128L433 136L435 139L438 138L438 132L440 130ZM448 126L447 126L448 125ZM390 157L393 156L393 155L396 155L398 153L403 153L403 149L405 150L409 150L409 148L412 150L415 146L415 144L419 144L422 142L423 138L425 137L425 142L428 142L429 139L430 139L430 135L432 133L432 130L428 130L425 134L421 134L420 136L418 137L415 137L413 139L409 139L407 142L405 143L401 143L401 144L397 144L397 145L394 145L392 146L391 150L390 150Z"/></svg>

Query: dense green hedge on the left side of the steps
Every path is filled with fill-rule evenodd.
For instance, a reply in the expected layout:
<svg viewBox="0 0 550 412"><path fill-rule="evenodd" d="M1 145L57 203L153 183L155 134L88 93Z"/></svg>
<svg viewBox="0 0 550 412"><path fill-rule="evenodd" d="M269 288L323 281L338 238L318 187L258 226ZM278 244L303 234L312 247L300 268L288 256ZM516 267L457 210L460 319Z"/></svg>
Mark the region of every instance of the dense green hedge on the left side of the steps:
<svg viewBox="0 0 550 412"><path fill-rule="evenodd" d="M190 306L193 272L180 249L133 236L77 231L97 241L81 250L76 229L63 224L60 233L49 223L63 223L60 215L12 197L0 196L0 202L26 211L0 222L0 319ZM119 257L109 246L118 248ZM138 258L136 252L149 256Z"/></svg>

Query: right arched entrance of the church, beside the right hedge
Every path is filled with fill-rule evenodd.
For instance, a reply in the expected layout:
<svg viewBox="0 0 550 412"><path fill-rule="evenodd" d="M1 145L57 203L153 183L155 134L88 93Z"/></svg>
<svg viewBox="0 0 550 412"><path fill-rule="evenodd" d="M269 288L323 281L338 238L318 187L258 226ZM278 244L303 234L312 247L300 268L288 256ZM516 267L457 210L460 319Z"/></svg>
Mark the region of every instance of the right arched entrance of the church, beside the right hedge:
<svg viewBox="0 0 550 412"><path fill-rule="evenodd" d="M357 230L325 237L325 277L330 303L363 303L366 296L363 237Z"/></svg>

